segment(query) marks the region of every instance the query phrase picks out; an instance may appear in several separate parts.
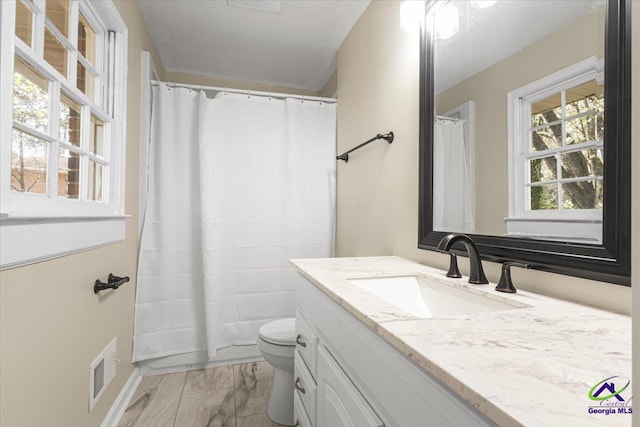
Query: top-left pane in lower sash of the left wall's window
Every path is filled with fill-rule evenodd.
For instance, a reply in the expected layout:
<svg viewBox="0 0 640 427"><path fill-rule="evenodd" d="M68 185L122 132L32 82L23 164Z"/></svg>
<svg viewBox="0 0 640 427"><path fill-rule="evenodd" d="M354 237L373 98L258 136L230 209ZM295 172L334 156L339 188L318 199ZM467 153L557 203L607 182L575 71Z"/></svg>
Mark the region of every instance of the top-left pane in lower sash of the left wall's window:
<svg viewBox="0 0 640 427"><path fill-rule="evenodd" d="M49 125L49 81L16 56L13 120L41 132Z"/></svg>

